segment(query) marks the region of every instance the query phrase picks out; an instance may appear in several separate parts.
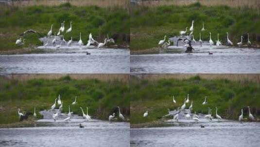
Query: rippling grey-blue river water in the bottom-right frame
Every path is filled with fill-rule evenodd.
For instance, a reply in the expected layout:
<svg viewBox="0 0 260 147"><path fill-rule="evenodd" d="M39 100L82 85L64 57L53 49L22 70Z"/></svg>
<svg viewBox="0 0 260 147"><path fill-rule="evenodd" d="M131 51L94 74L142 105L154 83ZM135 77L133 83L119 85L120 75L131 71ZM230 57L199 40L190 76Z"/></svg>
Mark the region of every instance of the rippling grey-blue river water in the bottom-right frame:
<svg viewBox="0 0 260 147"><path fill-rule="evenodd" d="M130 130L131 147L259 147L260 123L190 122ZM167 123L167 125L169 125ZM201 125L205 128L201 128Z"/></svg>

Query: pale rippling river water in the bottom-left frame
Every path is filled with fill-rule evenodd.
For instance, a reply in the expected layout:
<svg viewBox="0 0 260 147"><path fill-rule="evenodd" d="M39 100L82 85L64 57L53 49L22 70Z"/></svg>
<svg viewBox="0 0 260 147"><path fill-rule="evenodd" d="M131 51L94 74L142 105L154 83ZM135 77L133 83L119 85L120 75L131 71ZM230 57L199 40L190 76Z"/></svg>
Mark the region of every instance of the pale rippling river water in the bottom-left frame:
<svg viewBox="0 0 260 147"><path fill-rule="evenodd" d="M45 114L51 112L43 112ZM84 121L73 115L66 122L61 114L56 122L47 114L34 127L0 129L0 147L129 147L127 122ZM84 128L79 128L79 124Z"/></svg>

